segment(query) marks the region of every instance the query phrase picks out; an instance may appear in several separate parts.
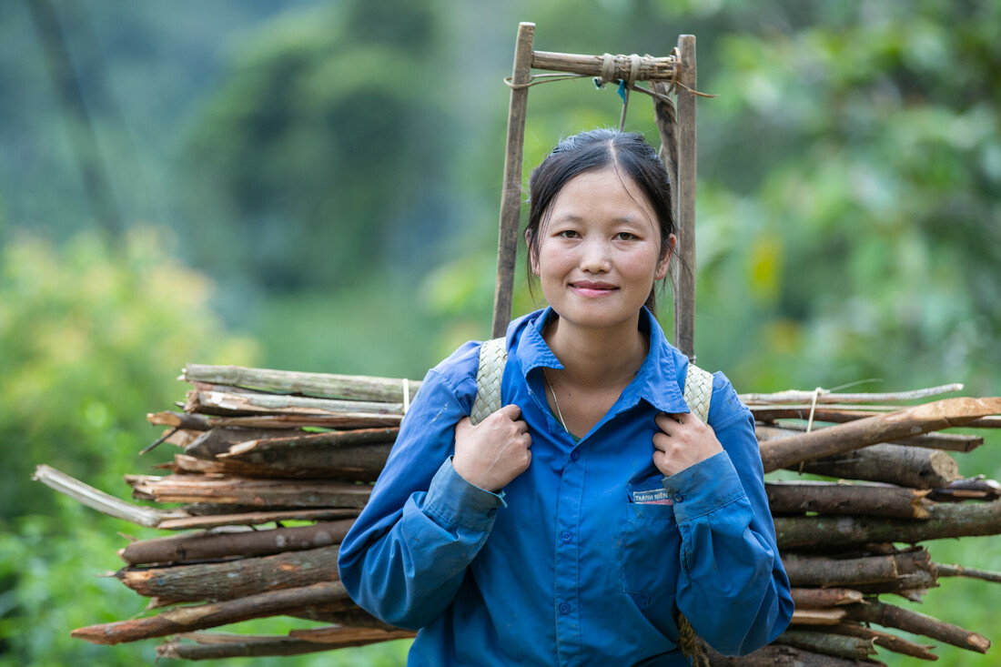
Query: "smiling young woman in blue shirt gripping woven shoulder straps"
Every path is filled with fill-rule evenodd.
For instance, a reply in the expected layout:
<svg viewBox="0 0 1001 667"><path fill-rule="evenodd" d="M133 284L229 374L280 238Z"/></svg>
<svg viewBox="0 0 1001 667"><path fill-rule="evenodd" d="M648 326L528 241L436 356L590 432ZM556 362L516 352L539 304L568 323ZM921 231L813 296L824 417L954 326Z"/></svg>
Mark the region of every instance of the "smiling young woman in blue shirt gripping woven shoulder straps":
<svg viewBox="0 0 1001 667"><path fill-rule="evenodd" d="M471 426L480 345L432 369L340 548L364 609L419 628L410 665L687 665L679 612L745 654L792 616L751 413L709 426L652 313L675 247L640 135L562 141L525 238L549 307L508 327L504 408Z"/></svg>

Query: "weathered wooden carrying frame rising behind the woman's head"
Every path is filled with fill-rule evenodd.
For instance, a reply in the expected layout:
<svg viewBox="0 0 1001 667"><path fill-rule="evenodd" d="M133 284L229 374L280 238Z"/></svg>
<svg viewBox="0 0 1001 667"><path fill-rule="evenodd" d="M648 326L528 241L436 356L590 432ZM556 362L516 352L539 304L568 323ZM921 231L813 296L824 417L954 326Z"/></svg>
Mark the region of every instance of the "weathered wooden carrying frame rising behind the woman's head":
<svg viewBox="0 0 1001 667"><path fill-rule="evenodd" d="M681 35L674 53L666 58L643 56L577 55L534 51L536 24L521 23L515 46L515 68L511 78L511 108L508 113L508 148L504 165L504 191L500 198L500 233L497 240L497 277L493 296L492 337L505 335L511 321L515 289L515 264L518 254L519 227L522 217L522 177L525 148L525 118L529 102L532 69L567 74L649 81L662 94L676 95L676 112L670 119L674 127L665 127L658 113L661 131L661 157L672 177L676 206L678 254L685 264L673 262L675 292L675 346L689 359L695 359L695 187L696 187L696 57L695 36ZM614 71L609 71L609 65ZM603 72L603 65L606 71ZM637 67L637 65L639 65ZM631 72L631 69L633 70ZM674 137L669 139L668 137ZM673 145L669 145L673 144ZM672 153L677 151L677 154ZM677 168L674 168L674 163Z"/></svg>

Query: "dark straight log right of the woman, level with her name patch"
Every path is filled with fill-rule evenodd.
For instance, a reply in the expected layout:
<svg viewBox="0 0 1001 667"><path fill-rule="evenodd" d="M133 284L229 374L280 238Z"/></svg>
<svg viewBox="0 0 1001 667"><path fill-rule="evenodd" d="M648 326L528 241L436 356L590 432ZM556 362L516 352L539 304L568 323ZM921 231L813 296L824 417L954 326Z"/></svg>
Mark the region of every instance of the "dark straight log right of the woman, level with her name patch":
<svg viewBox="0 0 1001 667"><path fill-rule="evenodd" d="M765 491L773 515L867 515L927 519L926 491L871 484L830 482L767 482Z"/></svg>

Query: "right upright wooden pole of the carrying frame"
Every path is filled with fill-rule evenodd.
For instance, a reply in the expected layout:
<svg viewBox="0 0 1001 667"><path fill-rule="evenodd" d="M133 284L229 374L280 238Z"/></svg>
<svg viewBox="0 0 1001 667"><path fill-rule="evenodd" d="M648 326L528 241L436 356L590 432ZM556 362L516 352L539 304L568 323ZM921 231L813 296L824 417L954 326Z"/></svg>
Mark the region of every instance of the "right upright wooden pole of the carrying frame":
<svg viewBox="0 0 1001 667"><path fill-rule="evenodd" d="M675 80L678 86L678 254L684 263L675 261L672 279L675 287L675 347L695 360L695 186L696 122L695 101L697 70L695 35L678 38L679 62Z"/></svg>

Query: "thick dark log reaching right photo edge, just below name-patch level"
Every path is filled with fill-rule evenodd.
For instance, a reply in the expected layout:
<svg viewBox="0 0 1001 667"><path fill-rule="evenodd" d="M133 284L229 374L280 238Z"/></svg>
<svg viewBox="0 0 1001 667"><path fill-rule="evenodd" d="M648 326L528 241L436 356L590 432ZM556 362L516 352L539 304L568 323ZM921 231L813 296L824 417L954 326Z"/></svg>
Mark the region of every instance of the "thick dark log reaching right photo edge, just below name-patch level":
<svg viewBox="0 0 1001 667"><path fill-rule="evenodd" d="M844 549L871 542L917 544L926 540L997 535L1001 501L928 508L925 521L883 517L776 517L779 548Z"/></svg>

